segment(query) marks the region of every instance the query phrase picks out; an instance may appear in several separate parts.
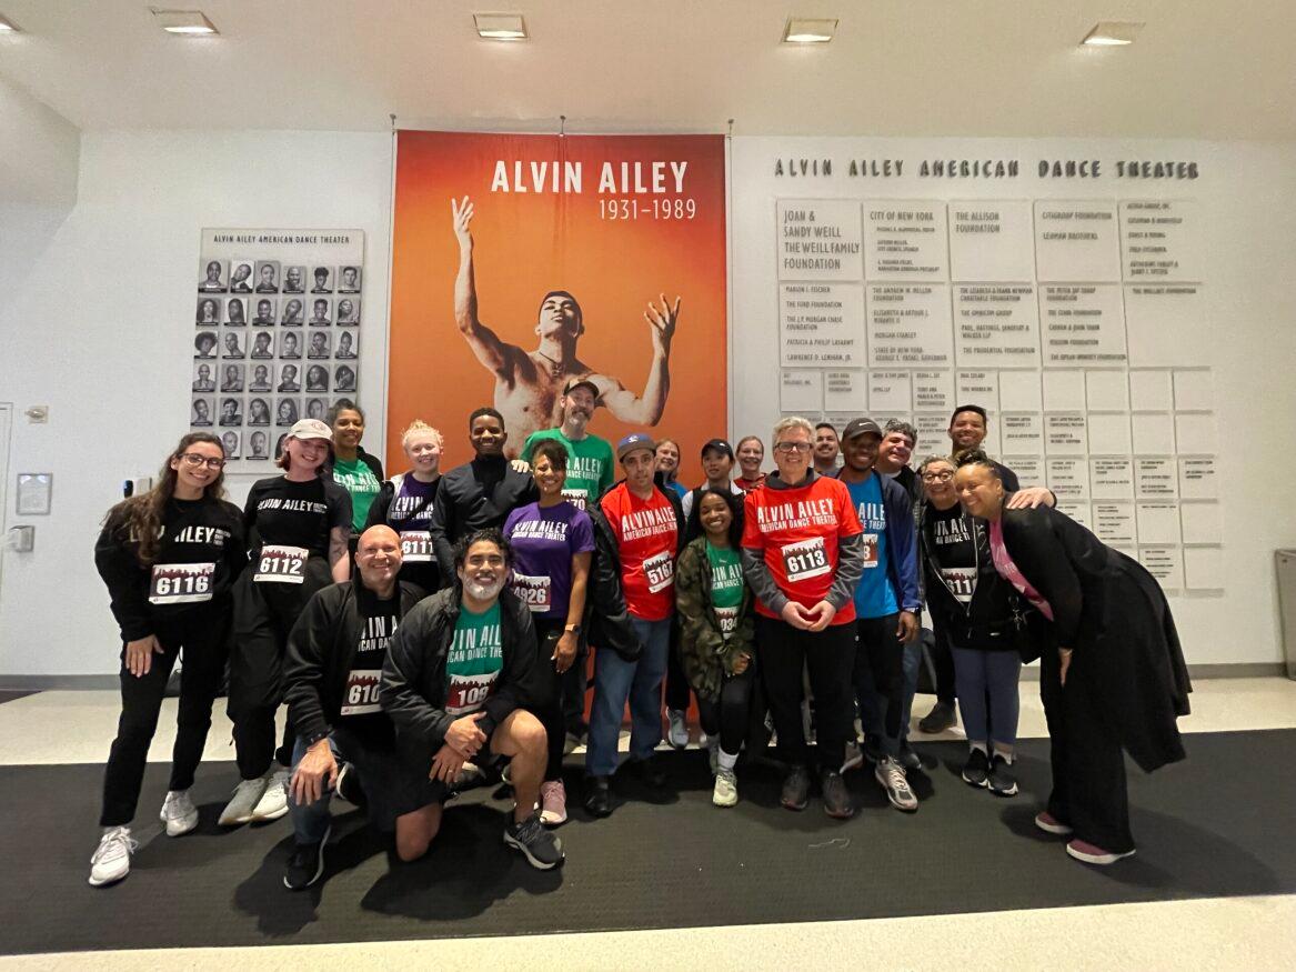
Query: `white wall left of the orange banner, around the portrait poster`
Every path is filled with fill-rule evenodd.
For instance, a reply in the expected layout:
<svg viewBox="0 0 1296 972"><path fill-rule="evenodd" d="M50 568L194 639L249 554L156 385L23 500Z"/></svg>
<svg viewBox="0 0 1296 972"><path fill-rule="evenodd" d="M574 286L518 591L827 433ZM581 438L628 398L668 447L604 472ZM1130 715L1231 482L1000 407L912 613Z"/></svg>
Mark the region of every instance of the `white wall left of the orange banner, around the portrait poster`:
<svg viewBox="0 0 1296 972"><path fill-rule="evenodd" d="M0 569L0 674L106 674L117 634L91 562L121 481L157 474L185 432L193 273L203 227L365 233L360 402L381 442L391 139L385 133L111 132L80 146L80 192L0 318L9 470L54 474L32 553ZM47 425L21 419L49 406ZM248 483L232 483L241 499Z"/></svg>

